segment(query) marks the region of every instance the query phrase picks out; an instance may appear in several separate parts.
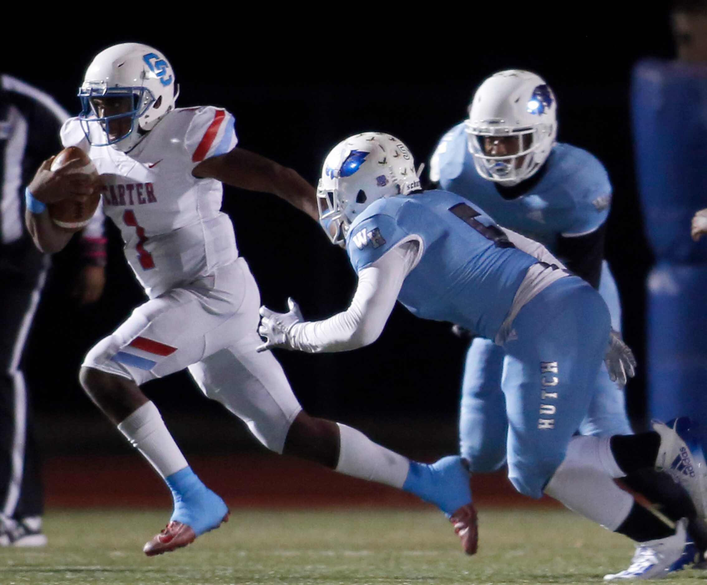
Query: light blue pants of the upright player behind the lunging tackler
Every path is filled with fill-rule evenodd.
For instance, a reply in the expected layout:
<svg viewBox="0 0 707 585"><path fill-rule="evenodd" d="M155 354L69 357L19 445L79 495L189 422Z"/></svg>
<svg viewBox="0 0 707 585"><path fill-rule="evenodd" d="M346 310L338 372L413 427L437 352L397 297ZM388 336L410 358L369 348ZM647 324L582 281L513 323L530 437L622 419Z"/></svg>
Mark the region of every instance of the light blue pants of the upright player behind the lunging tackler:
<svg viewBox="0 0 707 585"><path fill-rule="evenodd" d="M621 331L619 292L609 265L602 264L599 294L609 307L612 329ZM460 452L469 460L472 471L495 471L506 463L508 418L506 399L501 391L501 377L506 352L492 341L477 337L467 352L462 380L460 407ZM506 372L506 377L512 375ZM508 379L507 384L520 383ZM608 437L631 435L631 424L626 416L624 389L609 379L602 360L595 383L595 394L585 418L578 427L580 435Z"/></svg>

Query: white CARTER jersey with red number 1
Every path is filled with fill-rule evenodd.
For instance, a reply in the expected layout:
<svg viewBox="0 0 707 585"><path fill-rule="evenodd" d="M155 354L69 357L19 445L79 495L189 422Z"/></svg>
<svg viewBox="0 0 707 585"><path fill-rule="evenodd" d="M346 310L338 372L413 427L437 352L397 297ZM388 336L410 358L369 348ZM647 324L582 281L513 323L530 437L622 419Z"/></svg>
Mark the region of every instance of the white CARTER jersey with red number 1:
<svg viewBox="0 0 707 585"><path fill-rule="evenodd" d="M61 136L65 147L78 146L97 167L103 211L120 229L127 261L148 297L238 258L233 224L220 211L221 182L192 175L199 162L238 143L232 114L211 106L173 110L129 154L90 146L78 118L64 123ZM105 136L95 137L100 140Z"/></svg>

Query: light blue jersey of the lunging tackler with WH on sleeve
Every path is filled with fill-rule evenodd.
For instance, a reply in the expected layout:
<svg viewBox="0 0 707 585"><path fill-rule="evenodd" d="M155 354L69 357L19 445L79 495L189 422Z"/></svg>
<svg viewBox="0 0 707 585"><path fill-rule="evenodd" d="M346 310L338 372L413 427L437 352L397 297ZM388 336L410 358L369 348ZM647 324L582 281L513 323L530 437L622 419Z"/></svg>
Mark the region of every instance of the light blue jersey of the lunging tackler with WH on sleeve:
<svg viewBox="0 0 707 585"><path fill-rule="evenodd" d="M346 250L358 272L411 238L421 240L423 253L398 300L418 317L493 339L537 260L513 247L488 215L446 191L371 203L351 224Z"/></svg>

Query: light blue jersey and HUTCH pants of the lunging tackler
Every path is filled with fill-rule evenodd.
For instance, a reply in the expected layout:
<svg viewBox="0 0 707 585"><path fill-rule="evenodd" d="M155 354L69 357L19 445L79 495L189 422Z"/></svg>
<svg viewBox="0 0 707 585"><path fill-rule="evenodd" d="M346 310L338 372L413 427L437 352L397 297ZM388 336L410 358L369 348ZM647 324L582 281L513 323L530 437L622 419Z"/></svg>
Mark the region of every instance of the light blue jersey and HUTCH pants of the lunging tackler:
<svg viewBox="0 0 707 585"><path fill-rule="evenodd" d="M421 253L398 300L419 317L453 321L489 338L518 309L517 293L539 264L488 215L447 191L374 201L351 223L346 251L358 273L411 241ZM557 274L547 264L538 268ZM547 282L510 319L503 345L509 375L501 382L499 415L508 476L531 497L542 495L588 413L609 336L609 312L590 285L564 274Z"/></svg>

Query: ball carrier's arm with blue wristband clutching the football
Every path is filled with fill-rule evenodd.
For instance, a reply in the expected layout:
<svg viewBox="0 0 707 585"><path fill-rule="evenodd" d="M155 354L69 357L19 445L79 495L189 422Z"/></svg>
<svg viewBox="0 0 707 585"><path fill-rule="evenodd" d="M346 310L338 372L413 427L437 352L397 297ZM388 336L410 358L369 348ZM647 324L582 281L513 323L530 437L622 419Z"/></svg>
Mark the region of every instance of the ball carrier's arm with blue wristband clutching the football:
<svg viewBox="0 0 707 585"><path fill-rule="evenodd" d="M27 187L25 199L25 223L35 242L42 252L54 254L64 249L74 232L59 228L49 218L48 203L55 203L72 196L88 196L97 188L94 180L81 173L71 172L83 165L81 160L73 160L59 169L52 171L52 160L42 162L35 177Z"/></svg>

